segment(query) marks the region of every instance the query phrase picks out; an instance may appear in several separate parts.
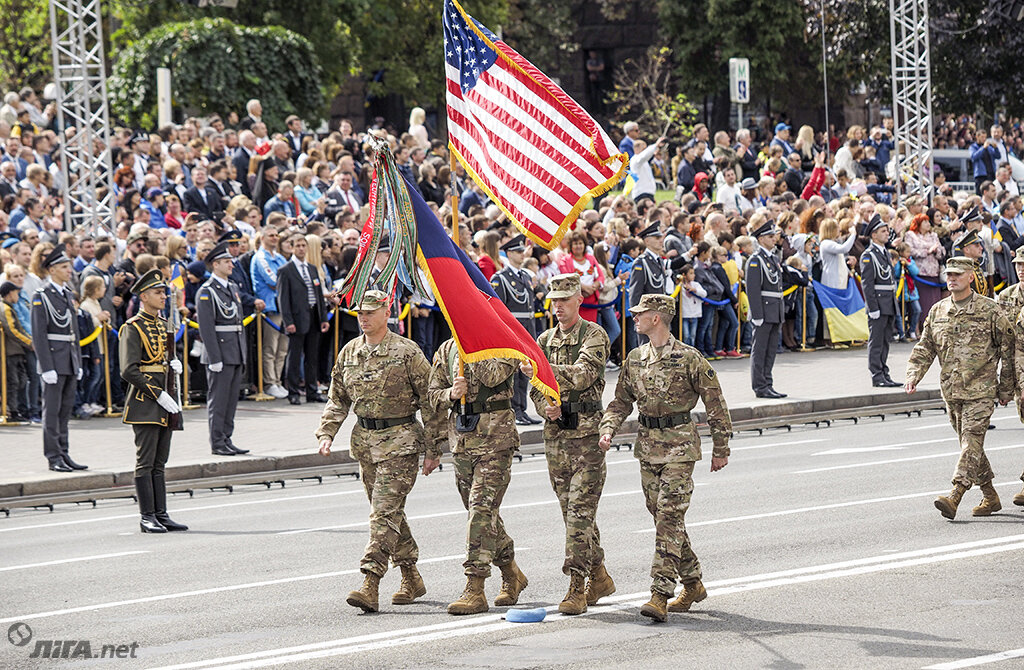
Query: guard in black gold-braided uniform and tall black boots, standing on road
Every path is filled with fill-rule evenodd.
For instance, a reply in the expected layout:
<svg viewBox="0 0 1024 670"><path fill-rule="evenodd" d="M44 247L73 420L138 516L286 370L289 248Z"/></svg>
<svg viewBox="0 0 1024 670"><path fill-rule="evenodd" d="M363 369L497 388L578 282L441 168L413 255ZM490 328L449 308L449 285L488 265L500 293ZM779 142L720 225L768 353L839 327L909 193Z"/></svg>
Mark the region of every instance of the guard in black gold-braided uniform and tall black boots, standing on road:
<svg viewBox="0 0 1024 670"><path fill-rule="evenodd" d="M167 301L167 284L159 269L143 275L131 292L139 311L118 331L121 378L128 383L121 420L135 431L135 495L143 533L187 531L167 514L164 466L171 451L172 422L180 427L181 407L169 390L181 362L168 347L167 321L160 310ZM173 387L173 388L172 388Z"/></svg>

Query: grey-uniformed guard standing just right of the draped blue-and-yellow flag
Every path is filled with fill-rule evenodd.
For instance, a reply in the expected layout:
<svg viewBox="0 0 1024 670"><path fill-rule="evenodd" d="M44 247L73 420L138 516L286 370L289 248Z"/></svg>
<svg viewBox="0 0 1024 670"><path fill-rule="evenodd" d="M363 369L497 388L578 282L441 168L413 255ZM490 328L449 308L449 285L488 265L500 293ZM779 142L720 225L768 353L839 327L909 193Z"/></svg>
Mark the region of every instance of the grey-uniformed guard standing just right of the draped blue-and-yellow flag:
<svg viewBox="0 0 1024 670"><path fill-rule="evenodd" d="M895 388L901 386L889 376L889 342L896 333L899 309L896 305L896 278L893 263L886 250L889 226L876 214L864 226L870 239L864 253L860 254L860 281L867 303L867 369L874 386Z"/></svg>

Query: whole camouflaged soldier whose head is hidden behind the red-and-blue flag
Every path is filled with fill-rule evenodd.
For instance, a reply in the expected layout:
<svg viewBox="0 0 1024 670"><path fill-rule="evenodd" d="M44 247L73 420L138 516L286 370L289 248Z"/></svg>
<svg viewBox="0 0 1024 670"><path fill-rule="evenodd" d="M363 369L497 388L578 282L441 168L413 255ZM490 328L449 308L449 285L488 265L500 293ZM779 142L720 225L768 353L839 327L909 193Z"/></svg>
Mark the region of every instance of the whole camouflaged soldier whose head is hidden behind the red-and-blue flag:
<svg viewBox="0 0 1024 670"><path fill-rule="evenodd" d="M519 449L519 432L512 411L513 375L519 369L511 359L467 363L459 373L459 349L449 339L434 353L430 373L430 403L437 412L451 410L449 443L455 461L455 480L462 504L469 510L466 532L466 590L449 605L449 614L487 611L483 583L490 564L502 571L502 590L496 605L511 605L526 587L526 576L515 562L515 545L499 514L512 476L512 457ZM461 400L465 397L465 404Z"/></svg>

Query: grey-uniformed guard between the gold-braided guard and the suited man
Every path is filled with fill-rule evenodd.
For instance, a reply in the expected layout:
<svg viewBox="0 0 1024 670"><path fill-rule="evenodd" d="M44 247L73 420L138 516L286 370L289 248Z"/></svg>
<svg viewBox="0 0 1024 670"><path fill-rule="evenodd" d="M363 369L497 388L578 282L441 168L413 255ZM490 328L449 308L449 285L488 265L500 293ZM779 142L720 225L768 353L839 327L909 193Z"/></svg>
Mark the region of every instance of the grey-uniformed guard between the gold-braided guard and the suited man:
<svg viewBox="0 0 1024 670"><path fill-rule="evenodd" d="M203 338L200 361L206 366L210 448L218 456L249 453L231 443L246 362L246 337L242 329L242 296L228 279L232 259L227 244L220 242L207 254L204 261L213 275L196 293L199 334Z"/></svg>

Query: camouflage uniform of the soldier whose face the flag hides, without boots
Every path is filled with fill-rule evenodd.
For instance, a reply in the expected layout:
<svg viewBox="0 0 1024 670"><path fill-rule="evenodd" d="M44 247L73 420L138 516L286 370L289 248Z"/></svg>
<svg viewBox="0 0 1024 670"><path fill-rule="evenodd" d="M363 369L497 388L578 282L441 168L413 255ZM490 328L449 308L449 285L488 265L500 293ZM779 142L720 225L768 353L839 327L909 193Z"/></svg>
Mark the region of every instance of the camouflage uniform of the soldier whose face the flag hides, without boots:
<svg viewBox="0 0 1024 670"><path fill-rule="evenodd" d="M458 348L449 339L434 353L430 373L430 404L438 414L453 408L452 384L459 375ZM519 365L512 359L467 363L466 401L476 402L484 387L493 389L487 404L504 409L478 414L479 423L469 432L456 430L456 412L449 418L449 443L455 461L455 480L462 504L469 511L466 533L465 574L489 577L490 564L499 568L515 559L515 545L505 532L499 508L512 476L512 456L519 449L519 432L512 412L512 375Z"/></svg>

